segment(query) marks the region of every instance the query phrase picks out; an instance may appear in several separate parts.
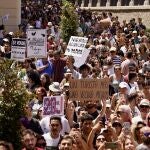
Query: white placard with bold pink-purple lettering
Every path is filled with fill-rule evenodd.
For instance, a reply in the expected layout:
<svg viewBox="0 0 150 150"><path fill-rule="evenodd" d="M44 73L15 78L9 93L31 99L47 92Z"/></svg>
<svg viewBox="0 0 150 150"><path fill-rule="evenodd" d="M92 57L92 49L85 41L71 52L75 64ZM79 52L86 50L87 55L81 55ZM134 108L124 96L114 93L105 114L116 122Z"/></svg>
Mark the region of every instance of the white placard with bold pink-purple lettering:
<svg viewBox="0 0 150 150"><path fill-rule="evenodd" d="M63 115L63 96L50 96L43 99L43 115Z"/></svg>

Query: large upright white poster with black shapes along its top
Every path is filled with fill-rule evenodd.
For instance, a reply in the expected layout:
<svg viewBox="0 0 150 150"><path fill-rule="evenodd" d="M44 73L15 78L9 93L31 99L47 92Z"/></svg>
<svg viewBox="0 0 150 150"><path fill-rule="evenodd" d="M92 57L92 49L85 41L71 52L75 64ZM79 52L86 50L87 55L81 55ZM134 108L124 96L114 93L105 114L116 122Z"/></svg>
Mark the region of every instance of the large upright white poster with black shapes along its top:
<svg viewBox="0 0 150 150"><path fill-rule="evenodd" d="M45 29L27 30L27 57L47 57L47 31Z"/></svg>

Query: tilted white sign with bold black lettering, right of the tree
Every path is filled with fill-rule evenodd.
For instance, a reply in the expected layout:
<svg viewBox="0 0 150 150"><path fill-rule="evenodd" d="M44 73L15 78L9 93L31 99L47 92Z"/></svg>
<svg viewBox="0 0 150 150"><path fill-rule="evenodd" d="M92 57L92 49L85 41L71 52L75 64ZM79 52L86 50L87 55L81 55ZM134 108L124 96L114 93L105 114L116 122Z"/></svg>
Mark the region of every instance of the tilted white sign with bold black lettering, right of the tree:
<svg viewBox="0 0 150 150"><path fill-rule="evenodd" d="M82 57L88 38L71 36L65 55Z"/></svg>

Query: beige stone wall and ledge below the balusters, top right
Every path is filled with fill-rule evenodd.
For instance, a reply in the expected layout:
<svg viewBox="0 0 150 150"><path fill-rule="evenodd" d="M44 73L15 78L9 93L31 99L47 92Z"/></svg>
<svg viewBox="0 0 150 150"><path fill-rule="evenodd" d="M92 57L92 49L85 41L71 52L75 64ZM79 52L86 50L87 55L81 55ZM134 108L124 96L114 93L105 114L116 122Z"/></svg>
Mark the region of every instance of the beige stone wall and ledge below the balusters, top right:
<svg viewBox="0 0 150 150"><path fill-rule="evenodd" d="M111 6L111 7L81 7L82 9L91 9L94 12L102 11L112 12L114 16L118 16L120 21L131 18L143 18L143 23L150 28L150 5L149 6Z"/></svg>

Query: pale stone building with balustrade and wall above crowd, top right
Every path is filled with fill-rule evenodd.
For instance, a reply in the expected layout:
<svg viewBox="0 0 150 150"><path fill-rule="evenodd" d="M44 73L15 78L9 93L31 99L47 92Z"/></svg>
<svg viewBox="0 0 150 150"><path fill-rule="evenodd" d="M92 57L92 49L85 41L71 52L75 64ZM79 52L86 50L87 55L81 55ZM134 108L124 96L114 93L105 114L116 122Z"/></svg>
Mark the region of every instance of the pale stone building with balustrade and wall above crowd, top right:
<svg viewBox="0 0 150 150"><path fill-rule="evenodd" d="M150 15L150 0L76 0L75 3L82 9L90 9L97 13L112 12L121 22L140 17L150 29L150 19L147 18Z"/></svg>

